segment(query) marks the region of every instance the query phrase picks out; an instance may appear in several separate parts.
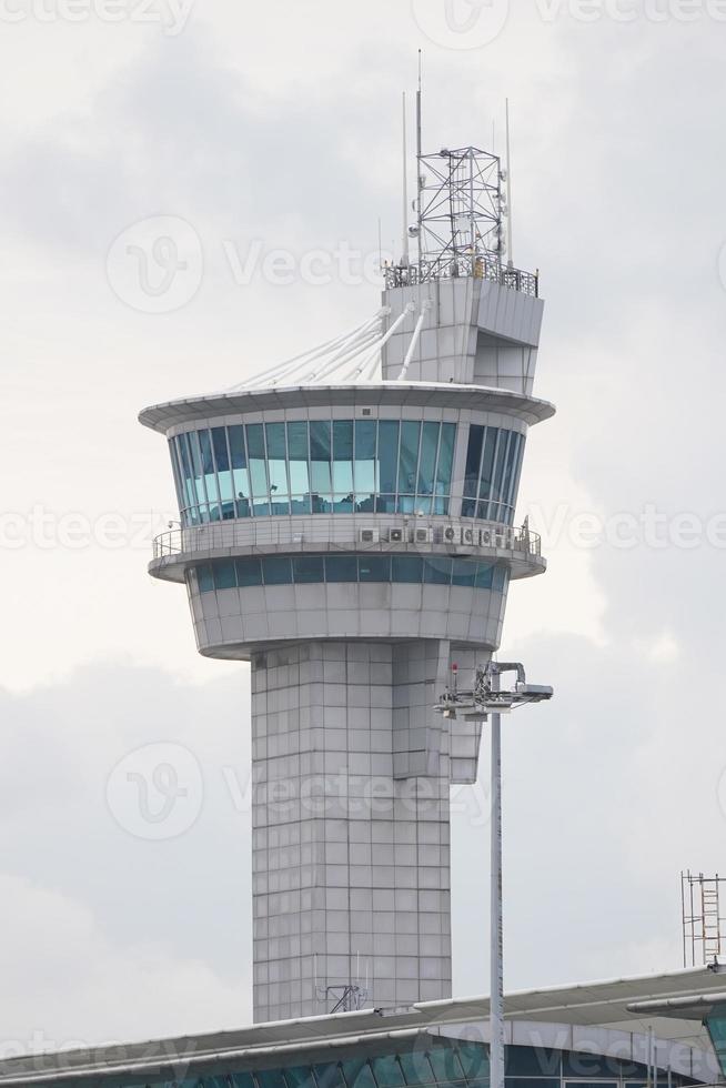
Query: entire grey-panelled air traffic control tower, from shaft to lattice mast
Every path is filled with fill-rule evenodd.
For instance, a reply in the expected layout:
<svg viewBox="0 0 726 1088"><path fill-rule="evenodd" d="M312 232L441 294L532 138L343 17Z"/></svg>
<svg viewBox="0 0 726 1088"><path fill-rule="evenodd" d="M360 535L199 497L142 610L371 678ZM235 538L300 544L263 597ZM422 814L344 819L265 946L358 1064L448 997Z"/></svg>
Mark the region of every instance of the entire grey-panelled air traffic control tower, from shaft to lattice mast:
<svg viewBox="0 0 726 1088"><path fill-rule="evenodd" d="M433 707L545 568L515 527L554 412L543 303L507 261L504 181L476 148L420 155L416 252L370 321L141 413L181 518L151 573L186 586L200 653L252 668L258 1021L451 996L448 795L482 725Z"/></svg>

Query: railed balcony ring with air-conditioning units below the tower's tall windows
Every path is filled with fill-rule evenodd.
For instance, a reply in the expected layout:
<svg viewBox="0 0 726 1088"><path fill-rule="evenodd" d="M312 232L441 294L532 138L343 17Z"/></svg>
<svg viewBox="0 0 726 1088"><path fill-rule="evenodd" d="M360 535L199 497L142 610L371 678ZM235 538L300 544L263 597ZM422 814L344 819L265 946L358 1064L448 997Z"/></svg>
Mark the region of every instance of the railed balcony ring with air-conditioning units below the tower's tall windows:
<svg viewBox="0 0 726 1088"><path fill-rule="evenodd" d="M340 515L337 515L340 516ZM411 521L414 521L412 518ZM361 533L374 528L380 532L380 540L366 542L361 538ZM423 541L416 538L416 532L431 530L433 538ZM403 530L404 540L389 541L386 534L390 530ZM445 537L446 530L454 530L453 538ZM458 533L462 536L460 538ZM473 534L471 536L466 534ZM522 552L527 556L540 557L542 555L542 538L537 533L533 533L526 525L513 528L500 522L471 522L458 518L442 518L427 526L420 524L407 526L402 520L390 518L386 522L365 522L357 518L353 532L351 524L333 524L323 520L315 524L313 521L302 525L290 525L276 523L270 524L264 521L255 524L254 521L229 521L214 522L205 525L194 525L190 528L175 528L157 536L153 542L154 560L170 558L175 555L188 554L190 552L211 552L224 548L265 548L278 550L280 547L290 551L305 550L311 546L333 544L336 547L356 548L359 551L370 551L377 548L382 544L391 544L393 547L406 544L420 545L425 547L427 544L441 544L455 547L493 547L504 551Z"/></svg>

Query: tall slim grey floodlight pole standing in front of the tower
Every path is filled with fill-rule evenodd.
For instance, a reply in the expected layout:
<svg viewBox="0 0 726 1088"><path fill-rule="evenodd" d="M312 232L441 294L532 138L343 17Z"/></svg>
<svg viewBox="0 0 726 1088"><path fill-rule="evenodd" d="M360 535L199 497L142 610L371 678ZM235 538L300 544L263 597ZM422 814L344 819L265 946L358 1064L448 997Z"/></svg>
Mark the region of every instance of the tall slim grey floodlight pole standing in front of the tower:
<svg viewBox="0 0 726 1088"><path fill-rule="evenodd" d="M502 691L502 673L516 673L511 691ZM491 990L490 990L490 1088L504 1088L504 940L502 921L502 714L525 703L552 698L551 687L527 684L524 666L513 662L488 662L476 669L472 691L447 689L436 704L444 717L462 714L470 721L492 716L491 766Z"/></svg>

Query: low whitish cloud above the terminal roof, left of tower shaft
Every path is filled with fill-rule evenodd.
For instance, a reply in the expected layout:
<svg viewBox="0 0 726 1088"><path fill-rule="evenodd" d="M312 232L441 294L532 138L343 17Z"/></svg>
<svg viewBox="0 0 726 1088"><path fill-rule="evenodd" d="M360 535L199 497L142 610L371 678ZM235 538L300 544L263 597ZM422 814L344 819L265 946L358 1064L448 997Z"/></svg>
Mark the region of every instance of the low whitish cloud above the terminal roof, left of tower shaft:
<svg viewBox="0 0 726 1088"><path fill-rule="evenodd" d="M201 958L112 940L84 903L8 873L0 873L0 925L2 1057L145 1039L150 1028L158 1036L211 1031L249 1018L246 974L230 983Z"/></svg>

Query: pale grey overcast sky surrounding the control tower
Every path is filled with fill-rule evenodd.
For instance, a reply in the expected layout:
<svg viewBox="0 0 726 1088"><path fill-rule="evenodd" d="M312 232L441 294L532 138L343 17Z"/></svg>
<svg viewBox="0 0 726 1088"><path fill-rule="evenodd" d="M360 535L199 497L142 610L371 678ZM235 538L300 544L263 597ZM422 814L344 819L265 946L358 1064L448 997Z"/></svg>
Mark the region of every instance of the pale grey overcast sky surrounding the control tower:
<svg viewBox="0 0 726 1088"><path fill-rule="evenodd" d="M174 498L137 413L374 312L419 48L428 150L502 150L511 100L558 406L520 505L549 570L503 644L556 687L506 723L507 986L679 966L679 870L726 865L725 7L0 0L6 1052L251 1017L248 668L145 573ZM159 216L140 291L118 254ZM150 842L114 783L170 744L191 807ZM482 807L457 794L460 996L488 989Z"/></svg>

